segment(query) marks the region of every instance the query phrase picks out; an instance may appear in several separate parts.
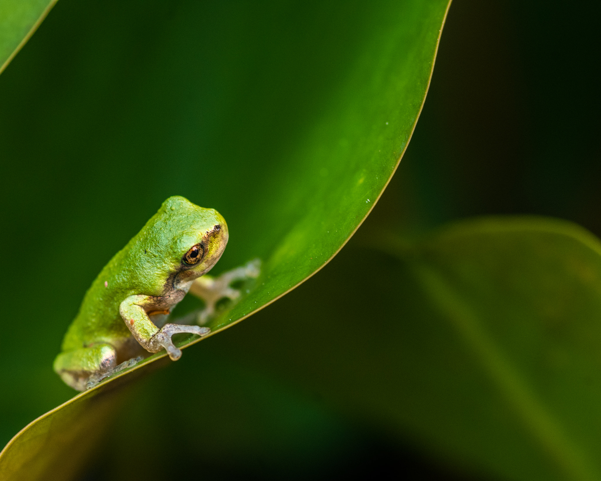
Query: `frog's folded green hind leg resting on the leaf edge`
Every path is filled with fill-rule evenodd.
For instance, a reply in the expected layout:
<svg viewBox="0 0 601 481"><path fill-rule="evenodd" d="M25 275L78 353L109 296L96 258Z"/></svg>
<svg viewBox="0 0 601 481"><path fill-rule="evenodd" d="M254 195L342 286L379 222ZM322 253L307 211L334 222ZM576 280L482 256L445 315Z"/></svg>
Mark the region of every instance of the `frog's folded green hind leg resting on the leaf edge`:
<svg viewBox="0 0 601 481"><path fill-rule="evenodd" d="M59 354L54 370L67 385L84 391L90 376L102 375L117 366L117 351L110 344L96 344Z"/></svg>

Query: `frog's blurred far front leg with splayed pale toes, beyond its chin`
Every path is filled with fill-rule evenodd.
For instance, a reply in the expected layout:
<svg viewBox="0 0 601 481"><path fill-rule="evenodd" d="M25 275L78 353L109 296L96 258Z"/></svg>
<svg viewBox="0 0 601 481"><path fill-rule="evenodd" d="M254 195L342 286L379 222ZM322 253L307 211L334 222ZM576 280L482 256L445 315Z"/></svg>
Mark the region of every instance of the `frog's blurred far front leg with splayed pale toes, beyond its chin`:
<svg viewBox="0 0 601 481"><path fill-rule="evenodd" d="M203 275L192 283L190 293L203 299L205 308L198 314L198 323L203 325L215 313L215 305L219 299L228 298L235 301L240 291L230 287L236 281L257 278L261 273L261 259L254 259L245 265L224 272L219 277Z"/></svg>

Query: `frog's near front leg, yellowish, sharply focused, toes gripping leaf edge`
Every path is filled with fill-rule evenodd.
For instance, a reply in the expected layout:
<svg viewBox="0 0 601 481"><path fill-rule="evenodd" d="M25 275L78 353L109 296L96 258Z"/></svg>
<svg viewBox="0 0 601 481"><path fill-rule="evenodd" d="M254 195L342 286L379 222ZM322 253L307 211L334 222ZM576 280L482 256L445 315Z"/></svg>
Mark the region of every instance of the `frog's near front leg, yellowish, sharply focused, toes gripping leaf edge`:
<svg viewBox="0 0 601 481"><path fill-rule="evenodd" d="M134 295L129 296L119 307L119 313L132 332L133 337L138 341L142 348L148 352L159 352L165 349L172 361L177 361L182 356L182 351L177 349L171 341L171 336L178 332L189 332L200 336L209 334L211 329L200 326L185 326L179 324L167 323L162 328L156 325L148 317L146 309L160 301L159 298L151 296Z"/></svg>

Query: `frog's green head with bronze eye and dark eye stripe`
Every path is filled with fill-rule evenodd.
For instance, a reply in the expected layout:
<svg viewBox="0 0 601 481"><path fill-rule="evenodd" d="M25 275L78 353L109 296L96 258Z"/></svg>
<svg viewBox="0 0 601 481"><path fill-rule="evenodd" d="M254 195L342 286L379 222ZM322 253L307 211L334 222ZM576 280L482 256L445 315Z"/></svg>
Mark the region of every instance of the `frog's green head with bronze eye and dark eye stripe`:
<svg viewBox="0 0 601 481"><path fill-rule="evenodd" d="M185 289L215 265L228 241L225 219L215 209L205 209L186 198L169 197L157 212L171 264L173 286ZM165 235L166 234L166 235Z"/></svg>

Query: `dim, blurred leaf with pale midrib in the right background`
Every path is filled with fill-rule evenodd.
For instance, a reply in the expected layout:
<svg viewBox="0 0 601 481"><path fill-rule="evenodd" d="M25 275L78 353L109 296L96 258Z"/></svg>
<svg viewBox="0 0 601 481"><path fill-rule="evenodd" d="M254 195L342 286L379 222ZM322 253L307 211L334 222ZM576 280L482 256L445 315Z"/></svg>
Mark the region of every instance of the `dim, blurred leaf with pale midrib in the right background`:
<svg viewBox="0 0 601 481"><path fill-rule="evenodd" d="M417 243L380 235L374 250L370 220L217 351L474 473L601 479L599 240L566 221L484 218Z"/></svg>

